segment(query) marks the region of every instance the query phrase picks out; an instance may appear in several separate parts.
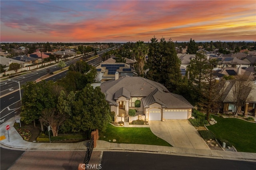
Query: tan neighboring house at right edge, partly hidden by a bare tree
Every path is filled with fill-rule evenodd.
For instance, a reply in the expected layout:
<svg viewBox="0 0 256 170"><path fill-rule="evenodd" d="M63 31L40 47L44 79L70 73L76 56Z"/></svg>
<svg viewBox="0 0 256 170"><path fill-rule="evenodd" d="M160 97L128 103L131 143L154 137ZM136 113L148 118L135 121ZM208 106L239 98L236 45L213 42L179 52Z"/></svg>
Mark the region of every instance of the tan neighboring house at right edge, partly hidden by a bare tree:
<svg viewBox="0 0 256 170"><path fill-rule="evenodd" d="M249 81L249 87L244 86L243 96L240 99L244 100L244 116L254 115L256 117L256 81ZM224 92L221 97L221 101L224 104L223 113L234 113L234 81L226 81L224 86Z"/></svg>

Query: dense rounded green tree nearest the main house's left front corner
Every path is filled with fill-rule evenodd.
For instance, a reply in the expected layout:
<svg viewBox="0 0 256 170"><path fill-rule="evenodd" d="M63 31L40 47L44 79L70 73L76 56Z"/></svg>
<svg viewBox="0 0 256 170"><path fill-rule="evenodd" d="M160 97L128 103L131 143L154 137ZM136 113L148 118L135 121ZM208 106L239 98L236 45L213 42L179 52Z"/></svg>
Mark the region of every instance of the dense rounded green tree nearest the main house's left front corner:
<svg viewBox="0 0 256 170"><path fill-rule="evenodd" d="M110 120L110 107L100 87L94 89L88 84L76 93L72 104L72 117L68 122L73 132L95 129L104 131Z"/></svg>

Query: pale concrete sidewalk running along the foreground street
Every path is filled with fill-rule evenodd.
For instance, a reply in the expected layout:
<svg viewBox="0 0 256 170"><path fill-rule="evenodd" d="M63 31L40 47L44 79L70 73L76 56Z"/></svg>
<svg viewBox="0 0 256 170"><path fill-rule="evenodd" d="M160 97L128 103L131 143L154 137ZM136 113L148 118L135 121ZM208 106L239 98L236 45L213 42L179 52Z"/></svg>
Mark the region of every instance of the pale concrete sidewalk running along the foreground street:
<svg viewBox="0 0 256 170"><path fill-rule="evenodd" d="M27 142L22 139L20 134L13 127L15 119L13 117L0 127L0 144L8 148L17 149L38 149L38 150L86 150L86 142L78 143L38 143L38 142ZM8 141L8 131L6 126L10 125ZM118 144L110 143L104 140L97 141L97 147L94 151L123 151L123 152L148 152L155 154L170 154L178 156L193 156L200 158L217 158L217 159L228 159L228 160L243 160L256 162L256 153L248 152L231 152L231 151L220 151L220 150L206 150L206 149L194 149L194 148L178 148L169 146L155 146L155 145L144 145L144 144ZM97 154L98 155L98 154ZM95 159L94 159L95 161ZM99 158L100 161L100 158Z"/></svg>

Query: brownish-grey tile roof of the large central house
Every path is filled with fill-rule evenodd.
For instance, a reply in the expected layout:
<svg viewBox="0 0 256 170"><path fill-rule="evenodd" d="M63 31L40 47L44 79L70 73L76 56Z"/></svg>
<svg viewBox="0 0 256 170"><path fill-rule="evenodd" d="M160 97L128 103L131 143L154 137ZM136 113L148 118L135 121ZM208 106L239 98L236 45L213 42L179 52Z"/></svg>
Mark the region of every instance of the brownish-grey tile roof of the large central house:
<svg viewBox="0 0 256 170"><path fill-rule="evenodd" d="M124 96L127 99L143 97L144 107L158 103L164 108L193 108L181 95L170 93L164 85L143 77L119 77L117 80L113 79L102 83L100 88L106 94L106 100L114 105L115 99Z"/></svg>

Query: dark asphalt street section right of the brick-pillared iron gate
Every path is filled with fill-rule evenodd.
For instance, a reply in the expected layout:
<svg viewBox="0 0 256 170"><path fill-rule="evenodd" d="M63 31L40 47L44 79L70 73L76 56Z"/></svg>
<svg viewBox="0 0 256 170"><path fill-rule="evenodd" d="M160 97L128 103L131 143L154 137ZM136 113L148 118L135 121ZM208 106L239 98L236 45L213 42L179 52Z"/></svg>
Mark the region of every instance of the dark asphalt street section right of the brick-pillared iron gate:
<svg viewBox="0 0 256 170"><path fill-rule="evenodd" d="M254 170L256 162L136 152L103 152L102 170Z"/></svg>

